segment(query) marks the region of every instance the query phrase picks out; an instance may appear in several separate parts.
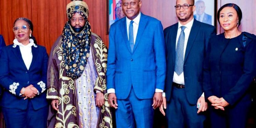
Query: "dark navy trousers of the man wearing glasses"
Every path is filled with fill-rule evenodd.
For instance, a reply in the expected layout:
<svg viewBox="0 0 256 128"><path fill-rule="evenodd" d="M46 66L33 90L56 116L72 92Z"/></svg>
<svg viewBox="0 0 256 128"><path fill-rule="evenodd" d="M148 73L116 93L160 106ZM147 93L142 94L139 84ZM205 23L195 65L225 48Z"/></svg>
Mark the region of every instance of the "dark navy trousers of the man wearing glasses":
<svg viewBox="0 0 256 128"><path fill-rule="evenodd" d="M197 105L189 104L185 88L172 87L166 109L168 128L203 128L206 117L204 113L197 114L197 111Z"/></svg>

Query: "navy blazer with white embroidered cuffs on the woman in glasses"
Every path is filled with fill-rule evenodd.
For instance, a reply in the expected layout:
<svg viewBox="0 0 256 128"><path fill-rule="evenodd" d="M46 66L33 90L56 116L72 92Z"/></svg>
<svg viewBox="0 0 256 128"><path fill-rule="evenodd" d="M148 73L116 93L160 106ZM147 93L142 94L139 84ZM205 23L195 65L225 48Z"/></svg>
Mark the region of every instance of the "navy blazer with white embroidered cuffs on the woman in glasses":
<svg viewBox="0 0 256 128"><path fill-rule="evenodd" d="M22 59L19 46L9 45L2 48L0 56L0 84L4 88L1 106L11 109L25 110L31 100L35 110L47 105L46 75L48 55L43 46L32 46L32 62L29 70ZM18 83L18 84L17 84ZM38 89L39 95L24 100L19 93L22 87L32 84Z"/></svg>

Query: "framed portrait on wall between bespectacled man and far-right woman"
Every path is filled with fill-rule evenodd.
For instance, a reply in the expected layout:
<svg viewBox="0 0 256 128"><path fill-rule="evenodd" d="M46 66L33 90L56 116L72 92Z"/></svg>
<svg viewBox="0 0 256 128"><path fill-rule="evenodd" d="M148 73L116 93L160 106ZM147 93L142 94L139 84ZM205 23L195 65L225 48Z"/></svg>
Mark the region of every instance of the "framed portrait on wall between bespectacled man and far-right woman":
<svg viewBox="0 0 256 128"><path fill-rule="evenodd" d="M216 0L195 0L194 18L200 22L216 26Z"/></svg>

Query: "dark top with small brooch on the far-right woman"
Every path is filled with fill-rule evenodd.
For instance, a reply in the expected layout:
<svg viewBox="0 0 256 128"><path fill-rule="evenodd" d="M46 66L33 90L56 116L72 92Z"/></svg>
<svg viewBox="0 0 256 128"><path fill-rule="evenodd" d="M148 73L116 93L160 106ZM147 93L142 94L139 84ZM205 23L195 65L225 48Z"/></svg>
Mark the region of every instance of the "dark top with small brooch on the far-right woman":
<svg viewBox="0 0 256 128"><path fill-rule="evenodd" d="M242 32L226 39L224 33L209 41L204 61L203 89L205 98L223 97L230 105L251 100L250 84L256 75L256 37Z"/></svg>

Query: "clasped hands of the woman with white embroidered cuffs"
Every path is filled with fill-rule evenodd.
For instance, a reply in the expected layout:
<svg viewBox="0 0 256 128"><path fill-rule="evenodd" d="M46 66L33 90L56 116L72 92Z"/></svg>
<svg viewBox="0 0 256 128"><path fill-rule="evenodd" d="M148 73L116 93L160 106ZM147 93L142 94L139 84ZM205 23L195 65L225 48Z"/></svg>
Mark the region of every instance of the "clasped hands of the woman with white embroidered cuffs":
<svg viewBox="0 0 256 128"><path fill-rule="evenodd" d="M37 88L35 88L32 84L30 84L27 87L24 87L24 92L23 89L20 90L20 93L24 93L22 95L22 97L25 97L24 100L26 100L27 98L34 98L37 94L38 94L38 90Z"/></svg>

